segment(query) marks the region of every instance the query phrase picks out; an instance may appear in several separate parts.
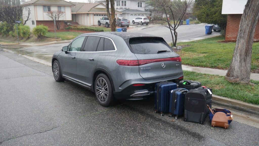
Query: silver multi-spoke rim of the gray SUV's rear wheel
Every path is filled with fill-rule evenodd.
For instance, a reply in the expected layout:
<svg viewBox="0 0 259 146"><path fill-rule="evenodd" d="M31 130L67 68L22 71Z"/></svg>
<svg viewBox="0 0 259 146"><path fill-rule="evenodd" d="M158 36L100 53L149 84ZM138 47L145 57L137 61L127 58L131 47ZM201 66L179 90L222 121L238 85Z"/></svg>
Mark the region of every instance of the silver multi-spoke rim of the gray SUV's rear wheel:
<svg viewBox="0 0 259 146"><path fill-rule="evenodd" d="M98 78L96 85L95 85L95 91L97 98L100 102L105 102L108 98L108 85L104 78Z"/></svg>

